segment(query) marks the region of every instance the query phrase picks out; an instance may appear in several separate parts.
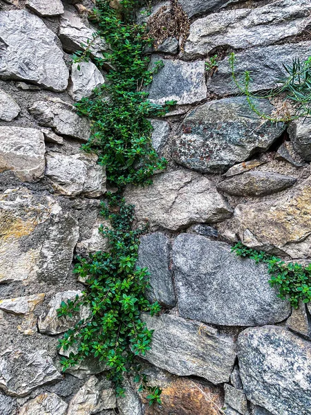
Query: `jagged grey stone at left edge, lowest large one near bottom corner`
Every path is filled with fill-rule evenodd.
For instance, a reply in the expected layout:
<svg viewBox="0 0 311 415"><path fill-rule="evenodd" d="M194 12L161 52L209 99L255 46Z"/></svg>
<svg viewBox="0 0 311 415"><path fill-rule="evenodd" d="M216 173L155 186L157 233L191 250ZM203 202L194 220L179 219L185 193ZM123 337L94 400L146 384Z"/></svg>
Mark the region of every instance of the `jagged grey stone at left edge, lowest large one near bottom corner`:
<svg viewBox="0 0 311 415"><path fill-rule="evenodd" d="M26 353L6 350L0 355L0 389L10 396L26 396L37 387L62 380L46 350Z"/></svg>

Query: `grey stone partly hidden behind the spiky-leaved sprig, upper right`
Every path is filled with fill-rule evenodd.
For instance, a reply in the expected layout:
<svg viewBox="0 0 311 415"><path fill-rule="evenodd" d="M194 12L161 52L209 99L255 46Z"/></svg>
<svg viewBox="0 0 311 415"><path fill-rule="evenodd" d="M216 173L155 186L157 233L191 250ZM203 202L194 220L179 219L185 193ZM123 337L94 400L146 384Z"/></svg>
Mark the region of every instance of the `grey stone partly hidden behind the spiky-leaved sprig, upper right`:
<svg viewBox="0 0 311 415"><path fill-rule="evenodd" d="M310 55L310 41L298 44L252 48L236 53L234 72L241 84L243 84L245 79L245 71L251 73L252 82L249 83L249 91L272 89L276 87L278 80L288 77L288 73L283 66L284 64L291 66L294 58L299 58L303 62ZM229 65L229 57L225 57L225 59L218 62L217 71L207 82L207 89L218 95L240 92L234 82L232 82L232 69Z"/></svg>

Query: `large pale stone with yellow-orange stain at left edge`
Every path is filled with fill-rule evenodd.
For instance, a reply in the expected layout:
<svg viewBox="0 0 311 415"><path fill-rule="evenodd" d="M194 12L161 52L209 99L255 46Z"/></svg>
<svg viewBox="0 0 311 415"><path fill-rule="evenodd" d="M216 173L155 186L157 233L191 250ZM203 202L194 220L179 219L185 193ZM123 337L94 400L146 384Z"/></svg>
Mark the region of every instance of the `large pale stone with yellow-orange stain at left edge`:
<svg viewBox="0 0 311 415"><path fill-rule="evenodd" d="M66 279L78 225L52 196L24 188L0 194L0 235L0 283Z"/></svg>

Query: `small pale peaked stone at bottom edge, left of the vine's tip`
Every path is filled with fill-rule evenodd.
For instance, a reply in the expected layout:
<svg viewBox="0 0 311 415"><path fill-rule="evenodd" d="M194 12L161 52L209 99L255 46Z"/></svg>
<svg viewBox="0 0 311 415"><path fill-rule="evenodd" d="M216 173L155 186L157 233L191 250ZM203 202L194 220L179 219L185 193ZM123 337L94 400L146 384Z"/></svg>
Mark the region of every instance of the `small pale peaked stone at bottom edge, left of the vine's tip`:
<svg viewBox="0 0 311 415"><path fill-rule="evenodd" d="M100 381L96 376L91 376L70 400L67 415L97 414L116 406L115 391L110 382Z"/></svg>

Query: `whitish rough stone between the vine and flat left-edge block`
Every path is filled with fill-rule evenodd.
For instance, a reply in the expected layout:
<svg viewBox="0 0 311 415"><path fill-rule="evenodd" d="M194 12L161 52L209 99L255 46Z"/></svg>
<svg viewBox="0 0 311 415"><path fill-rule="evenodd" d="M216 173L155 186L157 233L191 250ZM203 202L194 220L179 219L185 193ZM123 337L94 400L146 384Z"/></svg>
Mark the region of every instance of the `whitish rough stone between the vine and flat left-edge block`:
<svg viewBox="0 0 311 415"><path fill-rule="evenodd" d="M60 194L101 196L106 192L106 169L96 162L95 154L65 156L49 152L46 156L46 176Z"/></svg>

